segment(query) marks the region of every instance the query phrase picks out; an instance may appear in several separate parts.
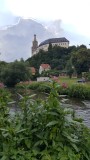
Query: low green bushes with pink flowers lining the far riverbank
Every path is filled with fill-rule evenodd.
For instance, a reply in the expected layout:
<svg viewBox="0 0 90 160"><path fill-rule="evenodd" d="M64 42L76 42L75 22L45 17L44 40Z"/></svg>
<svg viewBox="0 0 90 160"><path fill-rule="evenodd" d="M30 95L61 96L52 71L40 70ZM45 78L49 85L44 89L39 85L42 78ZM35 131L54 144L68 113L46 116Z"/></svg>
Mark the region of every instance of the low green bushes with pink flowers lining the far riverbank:
<svg viewBox="0 0 90 160"><path fill-rule="evenodd" d="M49 82L32 82L26 85L28 89L38 90L39 92L50 93L51 83ZM17 86L24 88L24 85ZM72 84L67 85L66 83L62 83L58 87L58 93L60 95L67 95L69 97L80 98L80 99L88 99L90 100L90 87L84 84Z"/></svg>

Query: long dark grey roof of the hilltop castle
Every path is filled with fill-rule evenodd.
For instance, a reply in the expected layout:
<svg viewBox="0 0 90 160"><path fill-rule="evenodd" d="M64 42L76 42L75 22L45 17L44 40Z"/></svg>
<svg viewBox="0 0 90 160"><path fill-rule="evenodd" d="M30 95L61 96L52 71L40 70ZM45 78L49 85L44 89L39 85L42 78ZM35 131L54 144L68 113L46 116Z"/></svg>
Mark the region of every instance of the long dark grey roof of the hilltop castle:
<svg viewBox="0 0 90 160"><path fill-rule="evenodd" d="M47 39L39 44L39 47L49 43L69 42L65 37Z"/></svg>

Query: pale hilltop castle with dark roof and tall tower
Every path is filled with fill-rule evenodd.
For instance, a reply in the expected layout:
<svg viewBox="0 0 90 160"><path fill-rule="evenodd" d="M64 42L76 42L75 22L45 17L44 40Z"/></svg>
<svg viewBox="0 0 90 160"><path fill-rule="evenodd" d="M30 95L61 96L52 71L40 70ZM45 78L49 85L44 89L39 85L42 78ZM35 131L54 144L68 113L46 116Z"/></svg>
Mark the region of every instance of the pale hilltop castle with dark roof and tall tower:
<svg viewBox="0 0 90 160"><path fill-rule="evenodd" d="M64 48L69 47L69 41L65 37L47 39L38 45L36 35L34 35L34 40L32 41L32 56L37 54L39 50L48 51L49 44L52 44L52 47L54 46L60 46Z"/></svg>

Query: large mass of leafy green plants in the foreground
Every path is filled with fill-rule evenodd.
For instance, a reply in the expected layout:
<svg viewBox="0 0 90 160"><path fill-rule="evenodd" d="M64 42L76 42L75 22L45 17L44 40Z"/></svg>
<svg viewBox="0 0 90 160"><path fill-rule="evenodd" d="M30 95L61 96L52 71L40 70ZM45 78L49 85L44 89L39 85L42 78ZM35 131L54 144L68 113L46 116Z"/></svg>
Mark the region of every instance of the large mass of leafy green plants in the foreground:
<svg viewBox="0 0 90 160"><path fill-rule="evenodd" d="M25 96L20 112L2 115L1 160L90 160L90 130L61 105L58 87L53 82L47 99Z"/></svg>

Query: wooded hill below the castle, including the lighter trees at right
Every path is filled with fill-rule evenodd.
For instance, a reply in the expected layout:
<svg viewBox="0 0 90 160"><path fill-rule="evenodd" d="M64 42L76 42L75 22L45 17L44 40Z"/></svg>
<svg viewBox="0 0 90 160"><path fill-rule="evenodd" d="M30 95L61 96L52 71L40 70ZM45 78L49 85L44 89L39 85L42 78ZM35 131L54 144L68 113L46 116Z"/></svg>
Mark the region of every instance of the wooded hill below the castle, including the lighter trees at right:
<svg viewBox="0 0 90 160"><path fill-rule="evenodd" d="M90 49L87 49L85 45L71 46L69 48L49 47L47 52L41 50L27 61L30 66L36 69L42 63L48 63L51 69L64 70L69 75L75 72L78 76L81 76L82 72L90 70Z"/></svg>

